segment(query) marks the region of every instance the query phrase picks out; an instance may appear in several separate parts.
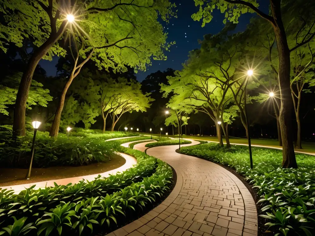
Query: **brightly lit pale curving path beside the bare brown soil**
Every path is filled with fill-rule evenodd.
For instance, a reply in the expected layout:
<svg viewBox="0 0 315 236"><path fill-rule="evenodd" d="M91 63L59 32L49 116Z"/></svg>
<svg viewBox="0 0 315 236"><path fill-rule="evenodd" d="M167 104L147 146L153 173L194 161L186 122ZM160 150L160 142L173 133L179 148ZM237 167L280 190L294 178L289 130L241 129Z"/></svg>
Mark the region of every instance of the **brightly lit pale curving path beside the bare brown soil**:
<svg viewBox="0 0 315 236"><path fill-rule="evenodd" d="M58 185L67 185L68 183L78 183L80 180L88 180L92 181L99 175L102 177L109 177L110 175L115 175L117 172L123 172L129 168L131 168L133 165L137 164L137 160L130 155L124 154L117 152L119 155L121 155L125 160L126 163L123 164L122 166L111 170L111 171L106 171L103 173L98 173L98 174L93 174L93 175L85 175L85 176L78 176L78 177L71 177L71 178L64 178L64 179L55 179L55 180L48 180L48 181L41 181L41 182L34 182L34 183L25 183L25 184L18 184L18 185L11 185L11 186L0 186L0 188L4 189L14 189L14 193L18 193L26 188L30 188L34 184L36 185L35 189L38 188L45 188L45 187L53 187L54 183ZM4 183L5 184L5 183Z"/></svg>

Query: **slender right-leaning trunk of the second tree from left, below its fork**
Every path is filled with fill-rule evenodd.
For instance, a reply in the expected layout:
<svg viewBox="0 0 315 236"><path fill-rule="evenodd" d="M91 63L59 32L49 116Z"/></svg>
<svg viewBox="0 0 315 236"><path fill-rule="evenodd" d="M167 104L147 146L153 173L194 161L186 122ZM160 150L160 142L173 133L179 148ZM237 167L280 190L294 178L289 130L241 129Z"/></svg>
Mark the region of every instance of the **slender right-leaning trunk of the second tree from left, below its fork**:
<svg viewBox="0 0 315 236"><path fill-rule="evenodd" d="M51 125L51 129L50 129L50 133L49 133L50 137L57 138L57 135L59 132L59 126L60 126L61 113L62 113L63 106L65 104L65 99L66 99L66 93L67 93L68 88L70 87L70 85L72 83L73 78L74 78L74 71L72 71L68 81L66 82L65 87L63 87L63 89L62 89L59 103L58 103L58 106L57 106L57 109L55 112L54 121Z"/></svg>

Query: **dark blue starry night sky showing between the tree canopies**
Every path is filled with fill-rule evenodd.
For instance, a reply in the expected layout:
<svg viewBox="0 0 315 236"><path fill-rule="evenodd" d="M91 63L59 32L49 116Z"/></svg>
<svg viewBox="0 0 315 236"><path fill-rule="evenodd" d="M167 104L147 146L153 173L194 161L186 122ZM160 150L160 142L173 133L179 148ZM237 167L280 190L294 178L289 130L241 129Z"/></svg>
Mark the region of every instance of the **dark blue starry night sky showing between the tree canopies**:
<svg viewBox="0 0 315 236"><path fill-rule="evenodd" d="M172 2L172 1L171 1ZM264 12L268 12L269 1L261 0L260 9ZM168 33L168 42L176 41L176 44L170 48L170 51L166 51L167 56L166 61L155 61L152 60L152 66L148 66L145 72L139 71L136 76L138 81L142 81L147 75L156 72L157 70L166 70L167 68L172 68L175 70L180 70L182 68L182 63L188 58L188 52L199 48L198 39L203 39L205 34L216 34L222 30L224 27L223 19L224 14L219 11L214 13L213 20L206 24L205 27L201 27L202 22L194 21L191 15L198 11L199 7L195 7L195 2L193 0L176 0L177 5L177 18L172 18L169 24L161 22L163 27L165 26L165 32ZM235 29L235 32L244 31L246 25L249 23L249 19L253 17L254 14L243 14L239 18L239 24ZM53 61L41 60L39 64L46 70L48 76L56 75L56 63L58 57L54 57Z"/></svg>

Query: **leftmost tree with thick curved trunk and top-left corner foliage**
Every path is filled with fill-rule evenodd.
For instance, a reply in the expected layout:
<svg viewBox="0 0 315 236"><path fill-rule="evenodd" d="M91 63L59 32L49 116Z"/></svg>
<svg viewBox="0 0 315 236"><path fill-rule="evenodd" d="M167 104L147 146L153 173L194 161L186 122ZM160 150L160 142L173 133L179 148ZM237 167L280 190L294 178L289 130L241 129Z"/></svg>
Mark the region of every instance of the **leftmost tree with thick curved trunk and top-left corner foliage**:
<svg viewBox="0 0 315 236"><path fill-rule="evenodd" d="M59 3L58 0L12 0L1 3L0 9L5 23L0 28L0 48L6 51L6 45L10 42L21 47L24 39L31 40L35 48L22 75L15 100L14 135L25 135L26 101L39 60L65 54L57 41L65 31L68 21L65 17L61 19Z"/></svg>

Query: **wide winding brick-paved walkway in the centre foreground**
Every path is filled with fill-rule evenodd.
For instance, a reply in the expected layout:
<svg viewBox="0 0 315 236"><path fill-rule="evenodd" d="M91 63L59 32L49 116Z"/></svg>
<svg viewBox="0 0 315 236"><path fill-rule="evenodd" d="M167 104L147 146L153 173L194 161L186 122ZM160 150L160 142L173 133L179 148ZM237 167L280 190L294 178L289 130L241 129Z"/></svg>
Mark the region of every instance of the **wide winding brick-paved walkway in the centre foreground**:
<svg viewBox="0 0 315 236"><path fill-rule="evenodd" d="M191 140L190 146L198 144ZM135 149L144 150L146 143ZM177 174L172 193L138 220L107 236L254 236L255 202L244 184L223 167L176 153L178 145L147 149L171 165Z"/></svg>

